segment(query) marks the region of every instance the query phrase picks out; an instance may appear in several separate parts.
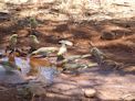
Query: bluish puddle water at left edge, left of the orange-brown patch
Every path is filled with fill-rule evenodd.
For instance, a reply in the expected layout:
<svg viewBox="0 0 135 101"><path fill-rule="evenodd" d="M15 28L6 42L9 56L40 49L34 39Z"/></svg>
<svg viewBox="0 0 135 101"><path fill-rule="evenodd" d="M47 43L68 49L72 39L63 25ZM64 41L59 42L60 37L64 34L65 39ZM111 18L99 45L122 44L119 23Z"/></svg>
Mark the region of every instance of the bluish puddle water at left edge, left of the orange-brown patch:
<svg viewBox="0 0 135 101"><path fill-rule="evenodd" d="M8 57L1 58L2 61L7 61ZM15 64L22 71L13 70L7 72L4 67L0 65L0 83L22 83L25 82L24 76L30 70L30 65L28 60L15 57Z"/></svg>

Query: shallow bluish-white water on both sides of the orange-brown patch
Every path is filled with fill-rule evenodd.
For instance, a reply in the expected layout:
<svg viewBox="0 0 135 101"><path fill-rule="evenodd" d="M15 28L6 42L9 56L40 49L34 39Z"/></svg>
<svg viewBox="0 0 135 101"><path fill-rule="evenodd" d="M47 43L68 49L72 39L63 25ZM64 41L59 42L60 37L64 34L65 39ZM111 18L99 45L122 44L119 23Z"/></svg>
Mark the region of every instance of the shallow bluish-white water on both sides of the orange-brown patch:
<svg viewBox="0 0 135 101"><path fill-rule="evenodd" d="M11 72L7 72L3 66L0 66L0 83L22 83L25 81L27 74L30 71L29 58L23 59L21 57L15 57L15 65L21 68L21 72L18 70L13 70ZM1 60L7 61L8 58L2 58ZM38 81L43 83L52 83L54 75L56 74L55 68L50 67L38 67L39 72L35 78Z"/></svg>

